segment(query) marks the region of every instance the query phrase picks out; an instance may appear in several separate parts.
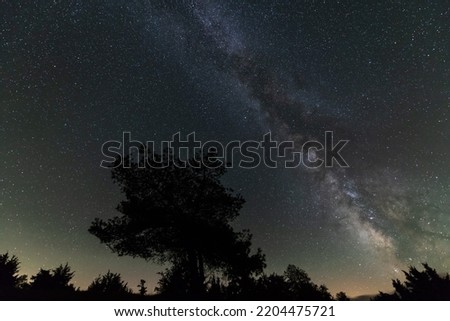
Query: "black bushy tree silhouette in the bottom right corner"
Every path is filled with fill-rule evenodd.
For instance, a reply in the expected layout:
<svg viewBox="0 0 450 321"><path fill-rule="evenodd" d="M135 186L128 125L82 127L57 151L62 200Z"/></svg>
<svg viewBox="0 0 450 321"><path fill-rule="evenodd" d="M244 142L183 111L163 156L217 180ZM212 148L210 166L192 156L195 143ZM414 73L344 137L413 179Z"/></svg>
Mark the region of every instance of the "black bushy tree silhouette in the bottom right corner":
<svg viewBox="0 0 450 321"><path fill-rule="evenodd" d="M422 264L424 270L419 271L415 267L409 267L409 271L403 271L405 282L399 279L392 280L395 292L393 294L380 292L375 300L450 300L450 276L440 276L435 269L428 264Z"/></svg>

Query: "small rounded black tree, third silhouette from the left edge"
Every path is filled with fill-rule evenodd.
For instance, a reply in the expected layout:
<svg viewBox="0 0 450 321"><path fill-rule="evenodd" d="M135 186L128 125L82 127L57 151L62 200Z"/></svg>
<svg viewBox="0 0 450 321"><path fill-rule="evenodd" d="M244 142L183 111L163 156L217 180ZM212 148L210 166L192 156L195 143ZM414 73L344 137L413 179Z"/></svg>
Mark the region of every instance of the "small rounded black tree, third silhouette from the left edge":
<svg viewBox="0 0 450 321"><path fill-rule="evenodd" d="M108 271L104 275L99 275L88 286L87 292L95 294L96 298L117 297L121 298L131 294L127 283L122 280L119 273Z"/></svg>

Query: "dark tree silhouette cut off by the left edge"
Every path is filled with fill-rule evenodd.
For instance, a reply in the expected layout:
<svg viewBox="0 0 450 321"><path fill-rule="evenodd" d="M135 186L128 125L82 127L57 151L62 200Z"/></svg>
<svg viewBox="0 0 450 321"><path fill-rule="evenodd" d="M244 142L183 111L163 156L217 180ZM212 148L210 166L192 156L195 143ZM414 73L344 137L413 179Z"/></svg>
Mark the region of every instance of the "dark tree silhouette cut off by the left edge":
<svg viewBox="0 0 450 321"><path fill-rule="evenodd" d="M26 275L19 275L19 259L9 253L0 255L0 296L13 295L26 282Z"/></svg>

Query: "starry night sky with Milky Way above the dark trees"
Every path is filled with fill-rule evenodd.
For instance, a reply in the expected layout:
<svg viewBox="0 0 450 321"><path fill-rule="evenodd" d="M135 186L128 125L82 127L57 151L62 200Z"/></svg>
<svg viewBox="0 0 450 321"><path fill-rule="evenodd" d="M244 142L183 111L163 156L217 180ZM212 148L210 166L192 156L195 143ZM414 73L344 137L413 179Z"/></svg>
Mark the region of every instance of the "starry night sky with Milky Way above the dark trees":
<svg viewBox="0 0 450 321"><path fill-rule="evenodd" d="M68 262L152 290L162 267L88 233L122 199L101 146L348 139L350 167L233 168L267 272L332 293L389 291L408 265L450 271L447 1L2 1L0 252L29 276Z"/></svg>

